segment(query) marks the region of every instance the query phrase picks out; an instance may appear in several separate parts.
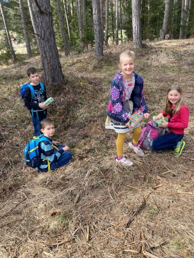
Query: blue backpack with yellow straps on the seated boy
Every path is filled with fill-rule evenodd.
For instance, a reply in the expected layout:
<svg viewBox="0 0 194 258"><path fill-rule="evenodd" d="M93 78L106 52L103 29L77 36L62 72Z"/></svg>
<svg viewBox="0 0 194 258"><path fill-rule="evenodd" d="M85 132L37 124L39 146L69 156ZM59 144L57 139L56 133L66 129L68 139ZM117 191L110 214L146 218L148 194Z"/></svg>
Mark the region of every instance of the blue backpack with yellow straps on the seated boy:
<svg viewBox="0 0 194 258"><path fill-rule="evenodd" d="M50 142L50 144L52 145L52 142L49 141L47 137L42 137L43 135L44 134L41 134L40 136L34 136L33 139L26 145L24 149L25 163L28 167L38 168L42 163L42 160L40 157L41 152L39 151L40 142L47 141L47 142ZM43 161L45 160L46 158L43 159ZM50 170L50 163L48 160L48 171L49 170Z"/></svg>

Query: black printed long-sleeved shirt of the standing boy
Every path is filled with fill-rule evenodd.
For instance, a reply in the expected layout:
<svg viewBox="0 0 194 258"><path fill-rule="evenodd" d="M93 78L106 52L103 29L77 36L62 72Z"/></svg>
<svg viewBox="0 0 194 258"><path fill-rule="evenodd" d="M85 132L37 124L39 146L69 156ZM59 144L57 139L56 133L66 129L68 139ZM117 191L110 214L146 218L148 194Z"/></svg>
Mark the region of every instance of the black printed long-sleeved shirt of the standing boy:
<svg viewBox="0 0 194 258"><path fill-rule="evenodd" d="M32 87L34 88L34 97L33 97L32 100L31 100L31 90L30 90L30 88L29 87L25 88L25 92L24 92L25 106L29 109L31 115L32 115L31 111L33 109L34 116L36 116L36 110L38 109L38 116L44 116L47 113L47 109L40 108L38 106L38 104L47 100L46 88L44 86L45 91L43 92L42 88L40 86L40 83L38 83L38 85L36 85L36 86L32 85Z"/></svg>

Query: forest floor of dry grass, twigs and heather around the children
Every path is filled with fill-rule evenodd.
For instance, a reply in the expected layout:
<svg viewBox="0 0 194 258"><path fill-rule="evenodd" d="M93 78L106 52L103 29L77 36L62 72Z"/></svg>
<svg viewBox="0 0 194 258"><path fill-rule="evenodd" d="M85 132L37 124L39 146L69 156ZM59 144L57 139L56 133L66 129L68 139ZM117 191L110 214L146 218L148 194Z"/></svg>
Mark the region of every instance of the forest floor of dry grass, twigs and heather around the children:
<svg viewBox="0 0 194 258"><path fill-rule="evenodd" d="M178 83L190 121L179 158L172 150L139 157L128 148L129 133L130 168L115 164L116 133L105 130L110 83L126 49L132 43L105 47L98 62L94 52L60 53L65 83L47 86L55 100L48 116L55 121L53 139L68 144L73 159L48 173L24 164L33 126L19 96L28 67L37 67L45 82L41 58L0 69L0 257L194 257L194 39L135 50L151 117Z"/></svg>

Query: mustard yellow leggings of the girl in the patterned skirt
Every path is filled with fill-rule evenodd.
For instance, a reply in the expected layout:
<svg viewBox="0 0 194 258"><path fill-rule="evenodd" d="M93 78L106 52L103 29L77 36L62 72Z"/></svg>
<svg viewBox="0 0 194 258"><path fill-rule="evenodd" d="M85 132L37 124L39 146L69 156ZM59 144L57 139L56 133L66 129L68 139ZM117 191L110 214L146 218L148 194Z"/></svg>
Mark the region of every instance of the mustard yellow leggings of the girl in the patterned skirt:
<svg viewBox="0 0 194 258"><path fill-rule="evenodd" d="M138 126L133 129L133 140L132 140L133 144L138 144L141 133L142 133L141 126ZM117 155L120 157L123 155L123 144L124 144L126 134L127 134L126 132L125 133L119 132L116 140Z"/></svg>

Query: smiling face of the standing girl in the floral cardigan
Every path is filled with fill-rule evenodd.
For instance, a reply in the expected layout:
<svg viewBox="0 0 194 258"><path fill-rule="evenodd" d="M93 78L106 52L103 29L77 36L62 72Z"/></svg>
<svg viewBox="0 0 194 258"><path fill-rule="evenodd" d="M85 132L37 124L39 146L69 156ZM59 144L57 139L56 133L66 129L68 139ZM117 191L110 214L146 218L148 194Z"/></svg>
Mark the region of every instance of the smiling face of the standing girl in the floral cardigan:
<svg viewBox="0 0 194 258"><path fill-rule="evenodd" d="M122 57L121 63L118 64L119 68L122 70L122 74L125 79L130 79L131 74L135 69L135 60L131 57Z"/></svg>

